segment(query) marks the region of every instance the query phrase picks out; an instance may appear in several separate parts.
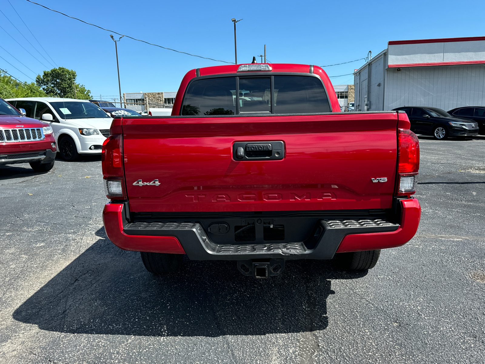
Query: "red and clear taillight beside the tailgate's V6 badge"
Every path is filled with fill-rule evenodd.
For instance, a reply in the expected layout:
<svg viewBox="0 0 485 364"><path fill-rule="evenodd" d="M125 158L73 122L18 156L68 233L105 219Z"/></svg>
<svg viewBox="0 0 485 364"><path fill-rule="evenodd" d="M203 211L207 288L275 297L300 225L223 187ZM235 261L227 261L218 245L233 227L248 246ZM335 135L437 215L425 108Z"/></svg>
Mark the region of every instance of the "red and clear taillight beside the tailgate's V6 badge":
<svg viewBox="0 0 485 364"><path fill-rule="evenodd" d="M420 143L414 132L398 129L398 175L396 194L412 195L416 192L420 169Z"/></svg>

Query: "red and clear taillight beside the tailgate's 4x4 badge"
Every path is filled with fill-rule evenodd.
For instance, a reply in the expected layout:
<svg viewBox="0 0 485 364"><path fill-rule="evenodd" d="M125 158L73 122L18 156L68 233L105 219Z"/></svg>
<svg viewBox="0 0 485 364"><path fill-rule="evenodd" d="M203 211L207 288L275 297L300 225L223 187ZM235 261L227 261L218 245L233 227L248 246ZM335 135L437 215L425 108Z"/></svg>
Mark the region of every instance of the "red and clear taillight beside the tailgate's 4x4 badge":
<svg viewBox="0 0 485 364"><path fill-rule="evenodd" d="M101 165L104 189L108 199L127 199L123 172L121 134L110 135L103 143Z"/></svg>

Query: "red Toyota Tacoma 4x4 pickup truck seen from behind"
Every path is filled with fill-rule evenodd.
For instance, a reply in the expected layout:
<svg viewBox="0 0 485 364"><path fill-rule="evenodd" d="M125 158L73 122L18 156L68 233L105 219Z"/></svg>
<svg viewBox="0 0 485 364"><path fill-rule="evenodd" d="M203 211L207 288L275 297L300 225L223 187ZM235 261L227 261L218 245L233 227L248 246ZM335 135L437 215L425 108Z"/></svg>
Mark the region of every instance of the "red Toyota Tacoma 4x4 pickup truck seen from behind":
<svg viewBox="0 0 485 364"><path fill-rule="evenodd" d="M339 111L318 66L189 71L172 116L113 120L108 237L152 273L183 254L234 260L255 278L292 259L372 268L418 229L419 142L404 112Z"/></svg>

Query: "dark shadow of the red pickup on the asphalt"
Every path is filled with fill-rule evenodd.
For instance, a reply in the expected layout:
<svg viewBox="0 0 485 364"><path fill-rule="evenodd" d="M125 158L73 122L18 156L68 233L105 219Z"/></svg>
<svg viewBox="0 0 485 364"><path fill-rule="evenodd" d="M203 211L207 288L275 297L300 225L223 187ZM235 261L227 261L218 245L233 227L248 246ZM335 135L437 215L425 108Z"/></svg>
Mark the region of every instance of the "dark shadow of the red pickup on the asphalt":
<svg viewBox="0 0 485 364"><path fill-rule="evenodd" d="M235 262L189 261L173 274L148 273L138 252L101 238L16 309L41 330L113 335L264 335L323 330L330 279L355 279L324 261L290 261L255 280Z"/></svg>

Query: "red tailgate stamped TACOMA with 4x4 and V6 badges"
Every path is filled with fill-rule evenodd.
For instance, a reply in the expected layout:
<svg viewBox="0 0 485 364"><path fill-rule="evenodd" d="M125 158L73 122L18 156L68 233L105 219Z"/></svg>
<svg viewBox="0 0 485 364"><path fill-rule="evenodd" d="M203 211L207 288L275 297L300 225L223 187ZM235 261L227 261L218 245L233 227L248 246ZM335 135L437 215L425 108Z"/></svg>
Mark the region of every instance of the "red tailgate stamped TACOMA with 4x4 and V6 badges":
<svg viewBox="0 0 485 364"><path fill-rule="evenodd" d="M133 212L390 208L397 122L394 112L123 119L129 208ZM285 157L234 158L235 142L265 141L282 141ZM387 182L377 182L384 178ZM154 180L158 183L149 184Z"/></svg>

